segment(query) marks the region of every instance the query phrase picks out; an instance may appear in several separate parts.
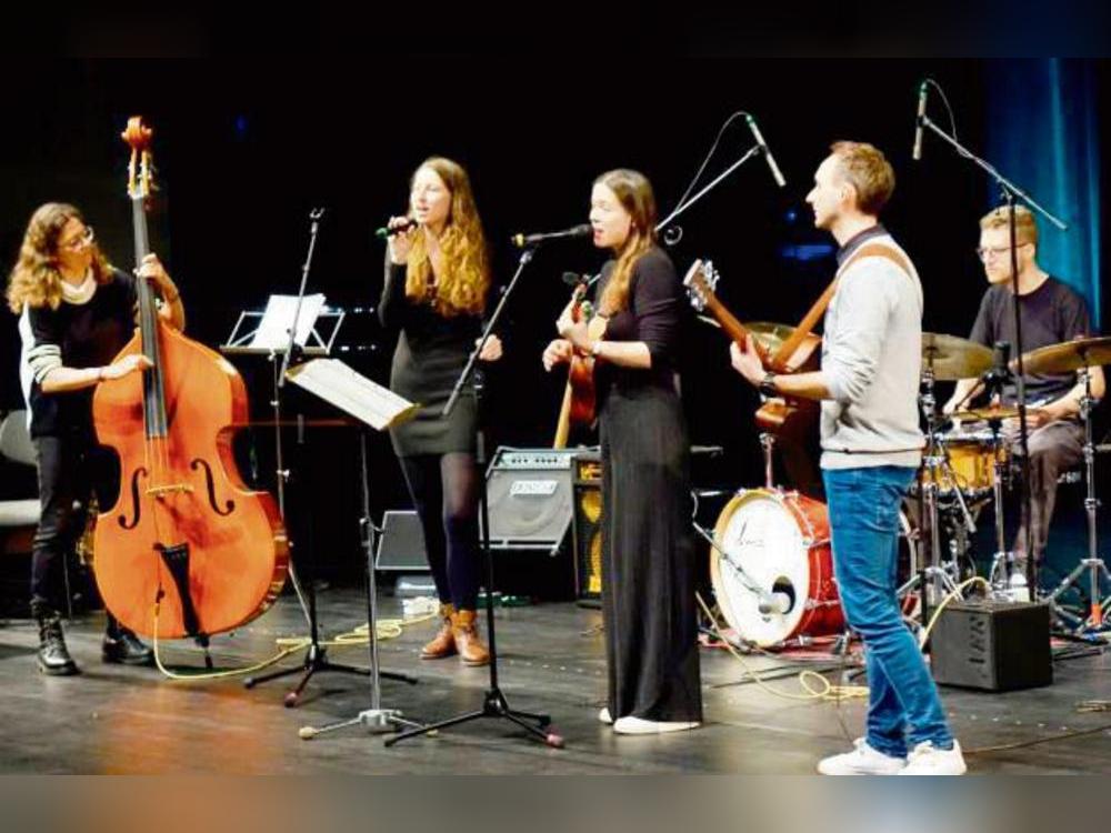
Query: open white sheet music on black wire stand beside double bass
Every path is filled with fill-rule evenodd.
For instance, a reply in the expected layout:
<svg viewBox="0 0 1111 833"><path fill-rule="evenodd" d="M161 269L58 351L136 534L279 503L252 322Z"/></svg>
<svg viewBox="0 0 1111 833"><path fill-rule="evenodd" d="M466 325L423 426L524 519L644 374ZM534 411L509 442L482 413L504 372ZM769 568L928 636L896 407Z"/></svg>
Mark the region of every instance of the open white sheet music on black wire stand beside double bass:
<svg viewBox="0 0 1111 833"><path fill-rule="evenodd" d="M294 341L304 355L329 355L347 313L324 305L323 294L306 295L297 321ZM289 328L297 309L297 295L270 295L267 308L259 312L247 310L239 313L228 342L220 345L220 352L234 354L281 354L289 344ZM254 329L241 333L248 321L256 322ZM330 329L329 329L330 328ZM321 332L323 330L323 332Z"/></svg>

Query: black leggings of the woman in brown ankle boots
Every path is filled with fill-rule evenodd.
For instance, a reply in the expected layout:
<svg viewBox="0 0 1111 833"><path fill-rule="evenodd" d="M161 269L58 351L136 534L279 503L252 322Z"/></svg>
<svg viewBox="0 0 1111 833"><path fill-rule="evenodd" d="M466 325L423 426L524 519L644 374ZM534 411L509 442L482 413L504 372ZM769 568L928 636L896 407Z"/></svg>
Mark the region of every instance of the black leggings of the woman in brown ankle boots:
<svg viewBox="0 0 1111 833"><path fill-rule="evenodd" d="M476 610L479 595L479 472L464 452L401 458L424 531L440 601Z"/></svg>

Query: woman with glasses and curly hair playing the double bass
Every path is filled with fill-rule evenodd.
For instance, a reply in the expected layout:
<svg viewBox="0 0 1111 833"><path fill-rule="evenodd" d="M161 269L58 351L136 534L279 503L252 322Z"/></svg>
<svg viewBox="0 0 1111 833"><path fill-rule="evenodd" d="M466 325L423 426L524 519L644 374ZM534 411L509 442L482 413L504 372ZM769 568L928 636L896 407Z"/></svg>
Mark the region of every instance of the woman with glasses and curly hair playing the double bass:
<svg viewBox="0 0 1111 833"><path fill-rule="evenodd" d="M162 300L160 314L182 329L181 297L157 257L147 257L139 279L152 281ZM97 442L92 392L106 379L150 367L141 354L114 361L134 332L137 298L136 278L109 265L76 208L51 202L31 215L11 271L8 304L20 314L20 370L39 464L42 511L31 556L31 612L39 623L38 664L46 674L78 673L58 614L62 570L84 529L90 495L108 506L119 489L114 456ZM150 649L111 614L101 653L106 662L152 659Z"/></svg>

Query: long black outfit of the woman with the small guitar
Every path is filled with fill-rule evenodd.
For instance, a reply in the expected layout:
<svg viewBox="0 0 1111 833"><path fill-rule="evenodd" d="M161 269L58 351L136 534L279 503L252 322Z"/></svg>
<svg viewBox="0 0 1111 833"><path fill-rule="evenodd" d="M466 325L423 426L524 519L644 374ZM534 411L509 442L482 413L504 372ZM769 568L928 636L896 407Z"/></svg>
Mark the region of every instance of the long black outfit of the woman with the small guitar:
<svg viewBox="0 0 1111 833"><path fill-rule="evenodd" d="M602 270L599 297L613 270ZM683 292L668 255L637 262L605 341L643 341L650 370L600 362L602 613L614 717L701 721L690 446L678 393Z"/></svg>

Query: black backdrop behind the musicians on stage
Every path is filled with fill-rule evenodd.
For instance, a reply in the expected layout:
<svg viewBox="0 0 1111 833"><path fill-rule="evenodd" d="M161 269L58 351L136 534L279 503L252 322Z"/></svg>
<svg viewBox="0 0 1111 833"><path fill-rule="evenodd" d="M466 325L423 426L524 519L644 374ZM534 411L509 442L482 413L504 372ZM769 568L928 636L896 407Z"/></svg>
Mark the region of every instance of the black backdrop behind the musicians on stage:
<svg viewBox="0 0 1111 833"><path fill-rule="evenodd" d="M1003 64L664 63L641 54L599 63L598 71L588 67L573 86L564 69L550 56L521 53L409 56L400 69L397 57L46 62L33 71L11 62L0 81L11 116L0 132L0 253L7 268L31 211L64 200L83 208L109 257L129 265L127 149L119 132L129 116L142 113L156 131L162 188L152 239L182 290L189 334L218 345L240 310L260 309L270 293L296 292L308 211L324 205L310 289L361 311L348 319L340 342L362 350L342 355L384 383L392 344L382 343L366 314L381 288L382 247L371 231L403 211L408 177L424 157L446 154L470 171L496 281L503 283L516 264L509 235L584 221L590 184L601 171L642 170L667 213L724 119L745 109L760 119L788 188L774 188L760 160L737 171L681 220L684 235L671 249L680 271L695 257L710 257L722 273L719 294L739 318L797 322L832 272L828 255L787 257L800 244L830 242L812 229L802 199L831 141L867 140L895 168L898 187L884 221L922 275L925 328L967 334L984 287L973 254L977 218L992 194L981 174L938 140L928 138L925 159L911 161L917 86L927 74L938 79L962 139L982 148L985 79ZM1107 67L1095 69L1105 94ZM397 80L383 82L390 78ZM749 144L737 123L709 171L722 170ZM506 322L508 355L490 374L491 445L550 443L563 382L543 373L540 351L565 301L560 275L593 270L601 260L589 244L553 244L528 269ZM18 339L14 318L4 313L4 321L0 403L7 409L19 404ZM727 450L715 464L700 466L699 476L757 484L755 397L729 369L720 333L698 327L690 343L684 393L692 440ZM256 415L264 415L266 360L234 361L248 379ZM287 404L326 410L292 394ZM240 444L243 465L249 476L269 482L272 439L259 433L253 440ZM358 564L356 448L342 432L319 433L309 461L318 550L339 570ZM370 468L376 516L404 504L386 438L372 440Z"/></svg>

